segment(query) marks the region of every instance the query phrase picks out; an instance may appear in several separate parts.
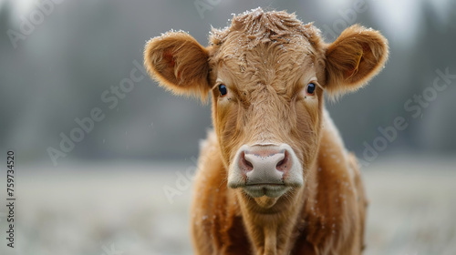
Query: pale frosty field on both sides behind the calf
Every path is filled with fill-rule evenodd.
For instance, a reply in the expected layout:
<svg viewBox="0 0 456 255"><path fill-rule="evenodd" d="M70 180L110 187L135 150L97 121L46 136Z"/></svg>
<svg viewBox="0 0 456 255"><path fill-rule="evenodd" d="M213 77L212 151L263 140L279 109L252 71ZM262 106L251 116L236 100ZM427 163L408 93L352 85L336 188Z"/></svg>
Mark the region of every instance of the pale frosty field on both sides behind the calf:
<svg viewBox="0 0 456 255"><path fill-rule="evenodd" d="M6 247L2 206L0 254L192 254L191 188L176 183L176 173L193 167L190 160L19 166L16 248ZM370 199L365 254L456 254L456 158L378 161L363 175ZM181 196L170 203L164 187Z"/></svg>

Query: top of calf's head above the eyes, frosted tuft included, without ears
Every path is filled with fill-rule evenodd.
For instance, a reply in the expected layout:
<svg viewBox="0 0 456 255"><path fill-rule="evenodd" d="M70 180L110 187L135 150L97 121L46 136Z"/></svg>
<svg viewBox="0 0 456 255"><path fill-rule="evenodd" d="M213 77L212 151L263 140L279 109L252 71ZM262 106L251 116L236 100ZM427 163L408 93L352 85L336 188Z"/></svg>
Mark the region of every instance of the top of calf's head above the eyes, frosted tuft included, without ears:
<svg viewBox="0 0 456 255"><path fill-rule="evenodd" d="M211 80L215 82L222 74L230 76L237 87L264 84L280 88L308 73L315 76L324 51L319 33L312 24L304 25L285 12L255 9L233 16L231 26L212 29Z"/></svg>

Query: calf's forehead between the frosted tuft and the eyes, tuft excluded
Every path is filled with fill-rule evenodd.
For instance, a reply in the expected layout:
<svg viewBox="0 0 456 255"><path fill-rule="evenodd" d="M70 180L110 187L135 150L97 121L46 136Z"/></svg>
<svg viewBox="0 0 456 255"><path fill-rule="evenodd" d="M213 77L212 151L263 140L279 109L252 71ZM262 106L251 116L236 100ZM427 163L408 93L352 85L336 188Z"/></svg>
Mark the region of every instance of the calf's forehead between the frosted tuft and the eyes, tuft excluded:
<svg viewBox="0 0 456 255"><path fill-rule="evenodd" d="M263 84L280 90L316 76L316 51L305 37L254 47L238 44L227 40L212 56L213 76L231 86L248 89Z"/></svg>

